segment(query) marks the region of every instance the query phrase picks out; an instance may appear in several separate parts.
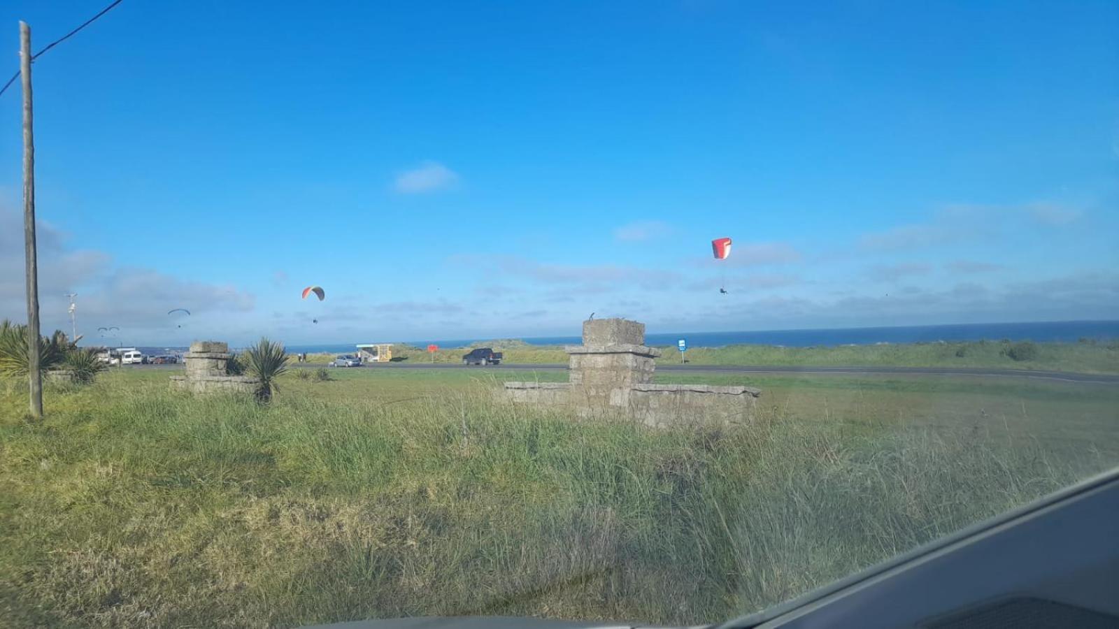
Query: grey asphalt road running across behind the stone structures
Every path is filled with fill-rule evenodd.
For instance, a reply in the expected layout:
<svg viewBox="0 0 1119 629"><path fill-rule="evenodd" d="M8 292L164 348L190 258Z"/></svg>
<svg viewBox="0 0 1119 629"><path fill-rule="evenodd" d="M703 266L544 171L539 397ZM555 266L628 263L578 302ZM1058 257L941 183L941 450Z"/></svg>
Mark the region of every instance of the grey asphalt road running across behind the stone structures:
<svg viewBox="0 0 1119 629"><path fill-rule="evenodd" d="M297 368L317 368L323 365L292 363ZM137 368L138 366L129 365ZM142 365L141 369L181 369L182 365ZM355 369L506 369L506 370L560 370L567 365L555 363L489 365L486 367L468 366L458 363L376 363ZM929 376L985 376L1016 377L1044 381L1062 381L1091 384L1119 384L1119 375L1075 374L1070 372L1040 372L1031 369L982 369L957 367L782 367L754 365L657 365L658 372L694 373L694 374L886 374L886 375L929 375Z"/></svg>

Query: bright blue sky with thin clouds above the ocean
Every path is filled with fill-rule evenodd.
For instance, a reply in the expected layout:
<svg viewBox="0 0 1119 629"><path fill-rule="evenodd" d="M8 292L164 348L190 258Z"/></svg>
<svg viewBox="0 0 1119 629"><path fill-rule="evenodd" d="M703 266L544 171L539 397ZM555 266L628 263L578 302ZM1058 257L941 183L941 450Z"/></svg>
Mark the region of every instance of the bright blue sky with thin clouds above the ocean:
<svg viewBox="0 0 1119 629"><path fill-rule="evenodd" d="M6 2L0 48L105 3ZM1115 2L250 4L124 0L36 63L46 327L69 291L134 344L1119 313Z"/></svg>

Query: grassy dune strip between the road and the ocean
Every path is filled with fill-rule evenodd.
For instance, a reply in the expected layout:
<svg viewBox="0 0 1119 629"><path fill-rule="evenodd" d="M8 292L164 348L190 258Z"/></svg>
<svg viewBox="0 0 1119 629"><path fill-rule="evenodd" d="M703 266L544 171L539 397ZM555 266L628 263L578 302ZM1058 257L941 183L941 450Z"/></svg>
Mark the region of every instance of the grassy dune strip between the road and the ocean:
<svg viewBox="0 0 1119 629"><path fill-rule="evenodd" d="M1015 359L1003 341L891 344L829 347L777 347L735 345L721 348L693 348L687 359L693 365L759 366L890 366L890 367L968 367L998 369L1043 369L1089 374L1119 374L1119 344L1116 342L1037 342L1035 355ZM505 353L508 364L566 363L558 346L533 346L524 341L487 341L476 347L493 347ZM468 348L441 348L434 356L423 348L397 345L393 357L408 363L458 363ZM659 364L679 363L675 347L661 348ZM326 364L332 354L312 354L311 363Z"/></svg>

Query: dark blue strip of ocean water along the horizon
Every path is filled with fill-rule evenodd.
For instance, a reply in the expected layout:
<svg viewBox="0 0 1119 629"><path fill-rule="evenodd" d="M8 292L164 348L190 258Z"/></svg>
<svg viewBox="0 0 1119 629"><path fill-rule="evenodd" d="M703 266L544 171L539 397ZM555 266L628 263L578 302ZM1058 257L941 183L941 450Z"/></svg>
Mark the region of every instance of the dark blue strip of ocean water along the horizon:
<svg viewBox="0 0 1119 629"><path fill-rule="evenodd" d="M835 328L815 330L765 330L732 332L651 332L646 345L676 346L686 339L688 347L723 347L727 345L783 345L810 347L822 345L874 345L877 342L934 342L938 340L1035 340L1075 342L1081 338L1096 340L1119 339L1119 321L1046 321L1040 323L961 323L951 326L900 326L888 328ZM466 347L487 339L423 339L405 341L424 347ZM582 338L530 337L521 339L529 345L577 345ZM354 341L365 342L360 339ZM354 344L290 345L288 350L354 351Z"/></svg>

